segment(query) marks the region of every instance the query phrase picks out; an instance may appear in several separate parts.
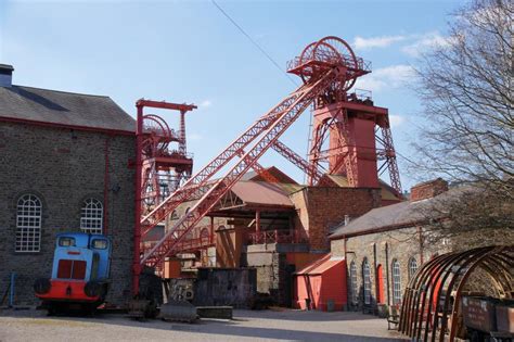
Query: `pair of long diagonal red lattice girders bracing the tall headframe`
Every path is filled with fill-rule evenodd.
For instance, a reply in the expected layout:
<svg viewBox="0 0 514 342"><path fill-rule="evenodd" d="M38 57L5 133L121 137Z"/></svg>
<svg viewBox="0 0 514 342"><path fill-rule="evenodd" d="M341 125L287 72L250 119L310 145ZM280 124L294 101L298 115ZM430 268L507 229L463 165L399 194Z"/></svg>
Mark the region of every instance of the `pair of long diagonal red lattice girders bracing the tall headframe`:
<svg viewBox="0 0 514 342"><path fill-rule="evenodd" d="M236 162L230 170L207 191L200 193L201 199L171 227L165 237L141 258L141 265L156 266L177 249L182 238L213 208L223 194L257 162L257 160L277 141L277 139L298 118L298 116L326 89L337 77L339 71L332 68L312 84L300 86L269 113L252 125L242 136L230 144L214 161L190 178L185 187L180 188L142 220L142 226L152 226L162 221L180 203L187 202L206 188L209 178L237 155L250 142L255 144Z"/></svg>

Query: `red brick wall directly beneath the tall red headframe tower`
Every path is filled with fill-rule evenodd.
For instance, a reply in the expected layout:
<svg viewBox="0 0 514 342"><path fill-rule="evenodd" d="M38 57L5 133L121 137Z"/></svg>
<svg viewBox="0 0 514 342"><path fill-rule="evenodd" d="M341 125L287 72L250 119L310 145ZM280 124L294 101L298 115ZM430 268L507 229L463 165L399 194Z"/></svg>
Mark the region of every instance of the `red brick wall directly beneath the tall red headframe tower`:
<svg viewBox="0 0 514 342"><path fill-rule="evenodd" d="M291 195L298 217L297 229L309 236L311 251L329 251L329 228L381 205L380 189L308 187Z"/></svg>

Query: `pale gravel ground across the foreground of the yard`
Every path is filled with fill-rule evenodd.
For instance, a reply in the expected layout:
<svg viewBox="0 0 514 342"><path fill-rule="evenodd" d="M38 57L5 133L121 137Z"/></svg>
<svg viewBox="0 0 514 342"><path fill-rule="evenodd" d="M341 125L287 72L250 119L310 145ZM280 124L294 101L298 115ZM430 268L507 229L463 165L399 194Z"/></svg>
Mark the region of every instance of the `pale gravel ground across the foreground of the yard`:
<svg viewBox="0 0 514 342"><path fill-rule="evenodd" d="M39 311L0 311L0 341L400 341L385 319L359 313L292 309L234 311L233 320L188 325L131 320L124 315L47 317Z"/></svg>

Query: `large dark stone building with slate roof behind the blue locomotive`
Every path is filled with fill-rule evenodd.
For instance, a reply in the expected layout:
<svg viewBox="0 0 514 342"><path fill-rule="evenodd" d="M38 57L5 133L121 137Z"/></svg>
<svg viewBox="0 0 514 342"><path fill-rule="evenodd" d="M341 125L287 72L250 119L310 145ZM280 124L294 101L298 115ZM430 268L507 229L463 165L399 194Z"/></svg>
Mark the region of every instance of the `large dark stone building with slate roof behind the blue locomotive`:
<svg viewBox="0 0 514 342"><path fill-rule="evenodd" d="M0 300L36 304L51 274L55 235L103 232L113 241L107 301L130 294L134 121L112 99L12 85L0 65Z"/></svg>

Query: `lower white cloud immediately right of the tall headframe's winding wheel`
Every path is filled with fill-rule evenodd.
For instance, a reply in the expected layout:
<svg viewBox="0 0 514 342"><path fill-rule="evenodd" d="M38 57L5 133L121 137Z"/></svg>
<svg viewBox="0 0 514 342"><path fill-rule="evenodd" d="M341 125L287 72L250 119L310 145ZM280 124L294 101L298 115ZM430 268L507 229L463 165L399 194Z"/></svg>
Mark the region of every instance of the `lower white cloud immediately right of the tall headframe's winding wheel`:
<svg viewBox="0 0 514 342"><path fill-rule="evenodd" d="M373 71L357 79L356 88L373 92L384 89L399 88L414 76L414 69L407 64L390 65Z"/></svg>

